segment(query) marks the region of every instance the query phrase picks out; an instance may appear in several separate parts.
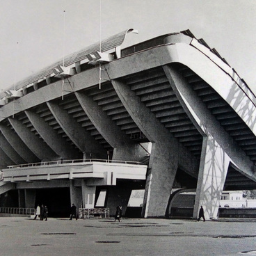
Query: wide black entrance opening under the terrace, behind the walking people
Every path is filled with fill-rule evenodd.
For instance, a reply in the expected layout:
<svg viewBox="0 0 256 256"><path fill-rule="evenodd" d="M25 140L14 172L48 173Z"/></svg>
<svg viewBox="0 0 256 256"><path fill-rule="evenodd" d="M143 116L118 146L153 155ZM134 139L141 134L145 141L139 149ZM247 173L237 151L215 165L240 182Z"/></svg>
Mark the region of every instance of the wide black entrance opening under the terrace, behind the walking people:
<svg viewBox="0 0 256 256"><path fill-rule="evenodd" d="M70 216L70 189L37 189L35 207L38 204L47 205L50 218L67 218Z"/></svg>

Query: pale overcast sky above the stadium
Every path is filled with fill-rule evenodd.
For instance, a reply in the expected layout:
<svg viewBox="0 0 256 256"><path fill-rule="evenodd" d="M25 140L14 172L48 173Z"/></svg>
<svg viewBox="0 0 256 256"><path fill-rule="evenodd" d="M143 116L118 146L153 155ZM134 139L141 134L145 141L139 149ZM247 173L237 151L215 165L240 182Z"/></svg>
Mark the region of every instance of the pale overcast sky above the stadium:
<svg viewBox="0 0 256 256"><path fill-rule="evenodd" d="M209 47L216 48L256 92L255 0L0 0L0 3L0 90L63 58L63 52L67 55L98 42L100 31L104 39L133 28L139 34L130 34L125 46L190 29L196 38L203 38Z"/></svg>

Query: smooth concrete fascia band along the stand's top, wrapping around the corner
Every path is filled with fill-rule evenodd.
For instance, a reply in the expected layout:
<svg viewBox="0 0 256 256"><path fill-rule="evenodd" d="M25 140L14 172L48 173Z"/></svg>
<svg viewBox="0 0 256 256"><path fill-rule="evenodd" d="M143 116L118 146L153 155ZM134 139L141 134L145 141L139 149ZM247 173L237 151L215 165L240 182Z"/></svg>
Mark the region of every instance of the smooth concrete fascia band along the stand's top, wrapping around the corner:
<svg viewBox="0 0 256 256"><path fill-rule="evenodd" d="M174 37L174 35L173 35ZM172 41L171 39L168 39ZM166 41L168 41L166 40ZM188 40L188 39L187 39ZM197 47L197 48L195 48ZM118 58L104 65L110 81L131 76L145 70L163 67L172 63L181 63L207 82L232 109L246 122L246 125L256 135L256 99L246 83L239 78L236 72L215 56L209 49L195 40L191 43L166 43L136 52L123 58ZM132 65L131 65L132 64ZM86 78L86 79L85 79ZM62 81L51 83L40 90L16 99L15 113L25 111L33 106L51 101L63 95L69 95L99 84L99 67L91 68L69 78L72 90L61 91ZM0 108L0 122L13 115L13 105L6 104Z"/></svg>

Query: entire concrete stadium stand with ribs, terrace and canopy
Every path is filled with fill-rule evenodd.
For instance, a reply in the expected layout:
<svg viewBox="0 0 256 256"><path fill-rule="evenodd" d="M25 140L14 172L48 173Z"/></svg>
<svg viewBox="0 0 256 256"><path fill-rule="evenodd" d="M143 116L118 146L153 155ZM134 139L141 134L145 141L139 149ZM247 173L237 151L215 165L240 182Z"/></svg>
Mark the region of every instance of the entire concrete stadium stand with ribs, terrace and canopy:
<svg viewBox="0 0 256 256"><path fill-rule="evenodd" d="M223 190L256 188L256 99L246 82L189 30L121 49L132 32L1 94L1 205L95 207L106 191L114 214L145 189L147 218L168 216L172 189L196 190L193 218L203 205L209 219Z"/></svg>

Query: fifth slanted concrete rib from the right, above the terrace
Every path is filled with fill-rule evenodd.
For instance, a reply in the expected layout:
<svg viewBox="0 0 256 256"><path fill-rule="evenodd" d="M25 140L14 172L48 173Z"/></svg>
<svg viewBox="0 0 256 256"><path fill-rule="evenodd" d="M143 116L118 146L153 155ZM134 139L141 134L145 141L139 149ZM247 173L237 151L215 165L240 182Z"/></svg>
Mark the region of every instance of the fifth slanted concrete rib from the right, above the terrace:
<svg viewBox="0 0 256 256"><path fill-rule="evenodd" d="M32 111L25 111L25 113L35 130L38 131L38 134L40 134L47 145L49 145L59 157L62 159L76 158L74 150L70 149L70 145L67 145L65 139L49 127L47 122L40 118L40 115Z"/></svg>

